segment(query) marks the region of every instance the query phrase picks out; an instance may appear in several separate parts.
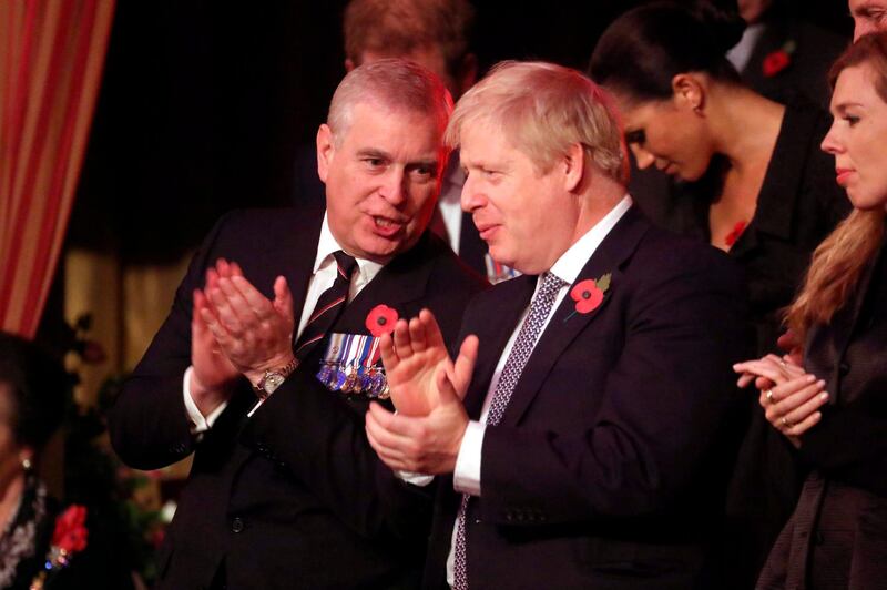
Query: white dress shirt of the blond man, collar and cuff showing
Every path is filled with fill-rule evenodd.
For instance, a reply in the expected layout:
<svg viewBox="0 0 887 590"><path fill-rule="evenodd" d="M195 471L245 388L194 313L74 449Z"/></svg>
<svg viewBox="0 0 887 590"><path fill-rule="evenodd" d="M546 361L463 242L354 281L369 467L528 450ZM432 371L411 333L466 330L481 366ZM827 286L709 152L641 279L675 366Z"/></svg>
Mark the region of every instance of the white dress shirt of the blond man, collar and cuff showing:
<svg viewBox="0 0 887 590"><path fill-rule="evenodd" d="M582 272L582 268L589 262L589 258L591 258L592 254L594 254L594 251L598 250L598 246L601 244L601 242L603 242L604 237L606 237L613 226L615 226L616 222L622 218L622 215L624 215L625 212L631 208L631 196L626 194L624 197L622 197L622 201L616 204L616 206L614 206L606 215L604 215L601 221L595 223L594 226L582 237L580 237L572 246L570 246L567 252L561 254L560 258L558 258L551 266L549 272L565 283L564 286L561 287L560 292L558 292L558 296L554 299L554 305L551 307L552 312L561 304L563 298L567 296L567 293L570 291L570 286L575 283L575 279L579 277L579 273ZM541 278L542 276L540 275L536 284L533 297L536 297L536 293L539 291L539 287L542 284ZM471 496L481 496L480 458L481 449L483 447L483 434L487 429L487 415L490 413L490 404L492 403L496 386L499 384L499 378L502 376L502 369L506 366L508 356L511 354L511 348L514 346L514 340L517 340L520 328L523 325L523 321L529 312L530 305L528 304L527 308L518 319L518 323L514 325L514 330L511 333L511 337L508 339L506 347L502 349L502 354L499 357L499 363L496 365L492 378L490 379L490 387L487 389L487 397L483 400L480 420L471 420L468 423L468 428L465 431L461 446L459 447L459 455L456 458L456 469L452 474L452 487L456 489L456 491L470 494ZM546 332L552 315L553 313L549 314L549 316L546 318L542 329L539 330L537 343ZM533 346L536 346L536 343L533 343ZM450 543L450 553L447 558L447 582L450 586L452 586L453 581L452 567L455 559L455 547L456 525L452 527L452 541Z"/></svg>

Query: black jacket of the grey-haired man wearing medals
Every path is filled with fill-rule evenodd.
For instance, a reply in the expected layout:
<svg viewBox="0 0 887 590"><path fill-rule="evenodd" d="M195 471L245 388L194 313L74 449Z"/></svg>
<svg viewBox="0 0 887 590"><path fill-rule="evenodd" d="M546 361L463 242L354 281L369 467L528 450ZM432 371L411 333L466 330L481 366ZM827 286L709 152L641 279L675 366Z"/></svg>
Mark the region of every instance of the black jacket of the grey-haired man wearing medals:
<svg viewBox="0 0 887 590"><path fill-rule="evenodd" d="M346 399L315 378L322 344L254 415L243 379L213 428L188 431L182 377L190 365L192 291L220 256L236 261L272 296L286 276L300 313L323 208L235 212L194 257L166 322L111 415L114 448L152 469L194 452L194 464L159 558L160 588L210 584L224 567L238 588L408 588L418 582L430 499L397 480L364 431L365 398ZM457 334L479 278L426 234L348 304L335 332L366 334L369 311L401 317L429 307L445 337ZM224 563L224 566L223 566Z"/></svg>

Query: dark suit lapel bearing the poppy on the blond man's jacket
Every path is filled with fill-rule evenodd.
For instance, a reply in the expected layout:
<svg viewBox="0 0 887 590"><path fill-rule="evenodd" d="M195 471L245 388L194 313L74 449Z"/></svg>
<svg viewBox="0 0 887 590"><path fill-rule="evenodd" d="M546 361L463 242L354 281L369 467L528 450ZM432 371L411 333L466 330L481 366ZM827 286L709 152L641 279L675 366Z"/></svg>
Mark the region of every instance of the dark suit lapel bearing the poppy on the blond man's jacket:
<svg viewBox="0 0 887 590"><path fill-rule="evenodd" d="M502 425L513 426L520 421L552 367L562 356L563 350L584 329L590 326L593 327L597 318L606 313L608 304L613 293L621 287L623 282L624 275L621 268L649 227L649 222L640 214L636 207L632 207L601 242L594 254L591 255L573 285L587 279L597 281L606 273L612 273L610 288L604 293L601 304L587 314L574 313L575 302L568 292L564 299L554 311L548 326L546 326L546 330L527 362L527 366L523 367L514 391L511 394L511 400L502 416ZM572 285L570 289L572 289Z"/></svg>

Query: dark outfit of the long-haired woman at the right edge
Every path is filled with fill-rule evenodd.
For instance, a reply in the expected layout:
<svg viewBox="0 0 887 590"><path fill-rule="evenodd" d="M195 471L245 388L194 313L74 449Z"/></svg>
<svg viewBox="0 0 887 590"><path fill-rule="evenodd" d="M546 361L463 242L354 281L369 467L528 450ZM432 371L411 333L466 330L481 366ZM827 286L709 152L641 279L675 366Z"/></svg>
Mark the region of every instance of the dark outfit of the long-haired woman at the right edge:
<svg viewBox="0 0 887 590"><path fill-rule="evenodd" d="M855 294L816 326L805 368L832 396L802 437L815 468L761 589L887 587L887 238Z"/></svg>

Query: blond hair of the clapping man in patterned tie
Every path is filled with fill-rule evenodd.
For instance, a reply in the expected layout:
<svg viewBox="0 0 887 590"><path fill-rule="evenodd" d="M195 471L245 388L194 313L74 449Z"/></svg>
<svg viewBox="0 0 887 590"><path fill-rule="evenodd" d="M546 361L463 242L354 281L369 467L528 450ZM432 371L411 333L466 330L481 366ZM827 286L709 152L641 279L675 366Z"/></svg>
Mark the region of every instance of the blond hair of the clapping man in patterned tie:
<svg viewBox="0 0 887 590"><path fill-rule="evenodd" d="M610 96L580 72L546 62L504 61L459 100L443 141L455 148L462 126L501 129L541 172L571 145L619 183L628 181L622 129Z"/></svg>

